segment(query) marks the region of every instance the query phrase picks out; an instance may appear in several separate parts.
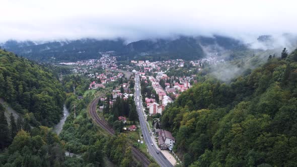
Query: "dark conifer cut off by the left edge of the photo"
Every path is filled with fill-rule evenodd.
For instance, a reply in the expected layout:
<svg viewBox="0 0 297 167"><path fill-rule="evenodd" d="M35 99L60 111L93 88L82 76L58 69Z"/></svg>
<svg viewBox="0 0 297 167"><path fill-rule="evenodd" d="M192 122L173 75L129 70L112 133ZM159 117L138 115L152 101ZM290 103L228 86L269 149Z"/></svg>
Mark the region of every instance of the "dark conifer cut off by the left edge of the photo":
<svg viewBox="0 0 297 167"><path fill-rule="evenodd" d="M11 142L8 123L4 115L4 111L0 111L0 146L4 149Z"/></svg>

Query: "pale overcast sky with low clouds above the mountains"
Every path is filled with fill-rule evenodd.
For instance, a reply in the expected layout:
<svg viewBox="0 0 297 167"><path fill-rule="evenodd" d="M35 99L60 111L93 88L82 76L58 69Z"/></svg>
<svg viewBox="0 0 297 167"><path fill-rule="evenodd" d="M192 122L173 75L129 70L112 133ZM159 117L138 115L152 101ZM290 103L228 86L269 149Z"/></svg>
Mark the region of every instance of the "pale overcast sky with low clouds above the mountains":
<svg viewBox="0 0 297 167"><path fill-rule="evenodd" d="M297 34L294 1L1 0L0 41Z"/></svg>

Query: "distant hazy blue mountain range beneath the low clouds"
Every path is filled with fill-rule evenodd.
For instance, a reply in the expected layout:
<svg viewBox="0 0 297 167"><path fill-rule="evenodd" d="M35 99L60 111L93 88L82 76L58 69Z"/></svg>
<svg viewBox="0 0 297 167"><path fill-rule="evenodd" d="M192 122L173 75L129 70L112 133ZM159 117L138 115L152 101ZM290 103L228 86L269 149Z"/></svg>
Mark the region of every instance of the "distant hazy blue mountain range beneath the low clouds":
<svg viewBox="0 0 297 167"><path fill-rule="evenodd" d="M60 62L77 61L98 58L100 52L114 51L119 60L129 59L198 59L207 55L204 48L233 50L238 47L246 48L236 39L213 36L213 37L186 37L176 39L140 40L125 44L123 39L96 40L80 39L73 41L43 42L32 41L7 41L1 46L13 51L20 56L38 61Z"/></svg>

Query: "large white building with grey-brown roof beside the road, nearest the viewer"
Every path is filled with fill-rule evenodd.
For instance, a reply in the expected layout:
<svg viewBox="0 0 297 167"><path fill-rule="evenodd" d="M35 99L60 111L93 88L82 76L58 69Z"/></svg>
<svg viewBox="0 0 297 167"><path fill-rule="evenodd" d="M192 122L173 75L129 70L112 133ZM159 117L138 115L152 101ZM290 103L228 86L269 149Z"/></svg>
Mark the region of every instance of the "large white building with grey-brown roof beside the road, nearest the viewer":
<svg viewBox="0 0 297 167"><path fill-rule="evenodd" d="M158 143L161 149L169 149L171 151L175 143L175 138L172 136L171 132L160 129Z"/></svg>

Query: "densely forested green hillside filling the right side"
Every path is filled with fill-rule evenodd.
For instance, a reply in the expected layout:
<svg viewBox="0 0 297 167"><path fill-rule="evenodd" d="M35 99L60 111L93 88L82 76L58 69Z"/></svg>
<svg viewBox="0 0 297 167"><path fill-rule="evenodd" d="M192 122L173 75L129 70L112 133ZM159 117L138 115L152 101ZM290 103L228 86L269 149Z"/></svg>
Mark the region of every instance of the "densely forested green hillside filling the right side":
<svg viewBox="0 0 297 167"><path fill-rule="evenodd" d="M186 166L297 166L296 98L297 49L284 50L230 83L202 77L162 126Z"/></svg>

